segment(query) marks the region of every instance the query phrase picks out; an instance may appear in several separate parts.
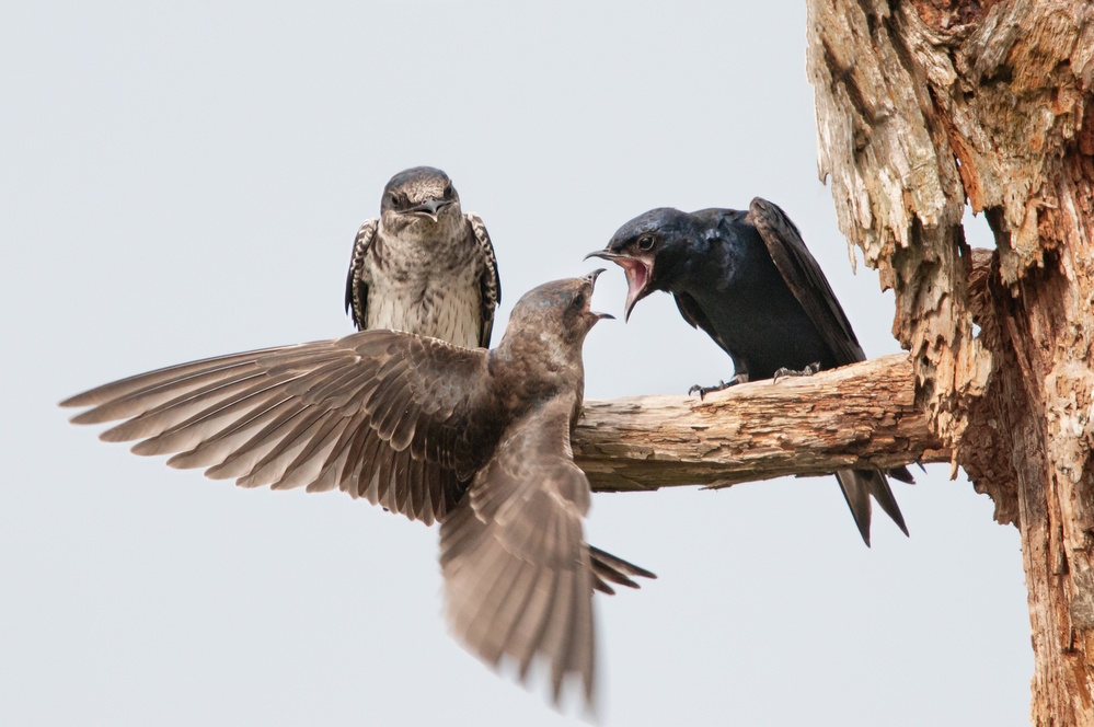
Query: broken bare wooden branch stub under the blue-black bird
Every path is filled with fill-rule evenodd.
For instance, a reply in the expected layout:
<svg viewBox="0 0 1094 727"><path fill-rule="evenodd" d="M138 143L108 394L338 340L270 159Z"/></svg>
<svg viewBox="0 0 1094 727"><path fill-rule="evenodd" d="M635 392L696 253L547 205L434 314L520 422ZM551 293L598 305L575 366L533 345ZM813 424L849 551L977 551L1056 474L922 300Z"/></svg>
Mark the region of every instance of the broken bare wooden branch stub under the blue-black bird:
<svg viewBox="0 0 1094 727"><path fill-rule="evenodd" d="M725 487L783 475L948 462L898 354L706 396L585 402L574 460L599 492Z"/></svg>

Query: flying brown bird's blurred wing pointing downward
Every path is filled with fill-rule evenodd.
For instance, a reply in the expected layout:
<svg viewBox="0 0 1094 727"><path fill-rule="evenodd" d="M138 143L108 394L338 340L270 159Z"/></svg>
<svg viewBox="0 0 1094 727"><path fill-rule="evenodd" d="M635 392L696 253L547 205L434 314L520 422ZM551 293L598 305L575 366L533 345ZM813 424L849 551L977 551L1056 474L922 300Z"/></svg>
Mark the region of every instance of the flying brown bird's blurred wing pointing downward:
<svg viewBox="0 0 1094 727"><path fill-rule="evenodd" d="M521 678L544 658L555 701L568 674L589 700L594 686L589 481L569 447L574 403L558 396L513 423L440 530L453 632L491 665L515 659Z"/></svg>

